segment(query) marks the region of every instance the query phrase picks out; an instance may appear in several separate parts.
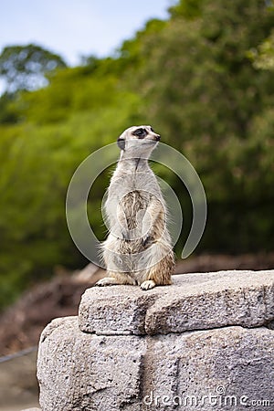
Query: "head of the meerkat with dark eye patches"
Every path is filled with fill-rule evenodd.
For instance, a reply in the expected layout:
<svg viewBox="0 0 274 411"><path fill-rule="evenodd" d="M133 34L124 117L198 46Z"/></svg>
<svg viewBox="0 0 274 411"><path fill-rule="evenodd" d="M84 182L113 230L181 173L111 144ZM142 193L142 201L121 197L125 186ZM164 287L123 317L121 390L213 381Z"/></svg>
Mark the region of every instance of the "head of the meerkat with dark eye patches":
<svg viewBox="0 0 274 411"><path fill-rule="evenodd" d="M154 132L151 126L142 125L130 127L122 132L117 144L122 152L132 157L147 158L159 141L160 135Z"/></svg>

